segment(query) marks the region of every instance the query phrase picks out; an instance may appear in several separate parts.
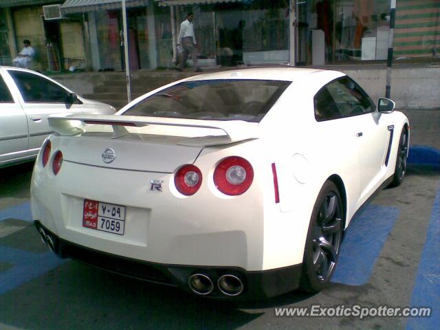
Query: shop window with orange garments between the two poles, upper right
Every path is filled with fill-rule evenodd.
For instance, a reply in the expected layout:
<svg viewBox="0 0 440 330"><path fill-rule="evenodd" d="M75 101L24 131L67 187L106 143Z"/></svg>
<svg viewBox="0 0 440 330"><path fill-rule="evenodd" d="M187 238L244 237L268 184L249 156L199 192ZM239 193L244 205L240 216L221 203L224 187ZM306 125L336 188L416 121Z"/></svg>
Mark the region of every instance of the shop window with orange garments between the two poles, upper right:
<svg viewBox="0 0 440 330"><path fill-rule="evenodd" d="M385 60L390 0L297 1L300 65Z"/></svg>

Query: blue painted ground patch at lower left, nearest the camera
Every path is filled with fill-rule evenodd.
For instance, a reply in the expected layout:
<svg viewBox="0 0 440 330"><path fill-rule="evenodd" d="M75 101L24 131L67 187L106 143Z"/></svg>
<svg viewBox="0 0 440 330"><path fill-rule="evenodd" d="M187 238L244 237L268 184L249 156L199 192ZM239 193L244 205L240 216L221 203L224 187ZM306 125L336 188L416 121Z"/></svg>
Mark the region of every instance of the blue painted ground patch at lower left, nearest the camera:
<svg viewBox="0 0 440 330"><path fill-rule="evenodd" d="M0 296L66 262L52 251L39 254L2 245L0 261L12 264L8 270L0 272Z"/></svg>

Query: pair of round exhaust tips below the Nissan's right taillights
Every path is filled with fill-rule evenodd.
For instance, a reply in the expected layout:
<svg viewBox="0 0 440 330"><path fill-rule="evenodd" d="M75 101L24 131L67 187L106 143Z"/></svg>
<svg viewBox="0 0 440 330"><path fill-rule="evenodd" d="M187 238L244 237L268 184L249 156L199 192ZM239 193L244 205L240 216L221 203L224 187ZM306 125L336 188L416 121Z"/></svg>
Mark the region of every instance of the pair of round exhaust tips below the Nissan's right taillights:
<svg viewBox="0 0 440 330"><path fill-rule="evenodd" d="M201 296L211 294L214 290L212 279L208 275L202 273L192 274L190 278L188 278L188 285L192 292ZM217 280L217 287L221 293L225 294L225 296L232 297L241 294L244 285L238 276L225 274L220 276Z"/></svg>

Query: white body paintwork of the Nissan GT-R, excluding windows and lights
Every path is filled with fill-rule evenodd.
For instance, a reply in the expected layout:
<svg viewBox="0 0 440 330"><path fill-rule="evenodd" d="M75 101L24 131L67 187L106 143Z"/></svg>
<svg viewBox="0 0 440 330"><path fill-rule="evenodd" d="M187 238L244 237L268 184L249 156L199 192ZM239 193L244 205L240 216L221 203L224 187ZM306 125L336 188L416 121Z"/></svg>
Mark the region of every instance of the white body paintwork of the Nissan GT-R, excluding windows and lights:
<svg viewBox="0 0 440 330"><path fill-rule="evenodd" d="M133 104L181 81L133 100L113 116L53 118L58 133L49 138L51 157L60 150L64 162L54 175L39 155L31 187L33 219L65 241L140 261L240 267L248 272L300 265L311 212L325 181L335 175L342 180L347 227L366 199L393 176L399 136L408 124L402 113L377 110L317 122L315 94L343 76L316 69L267 68L181 80L292 81L261 122L122 116ZM113 126L113 133L111 126L90 126L86 120L125 121L137 127L124 127L124 133ZM151 124L143 126L146 122ZM389 125L395 126L394 143L385 166ZM205 135L223 140L212 145L212 137ZM102 162L107 147L117 154L111 164ZM231 155L247 159L254 169L252 185L239 196L224 195L213 181L219 161ZM279 203L274 198L273 163ZM175 187L175 170L183 164L194 164L203 175L195 195L182 195ZM151 180L164 181L163 191L150 190ZM84 199L126 206L124 235L84 228Z"/></svg>

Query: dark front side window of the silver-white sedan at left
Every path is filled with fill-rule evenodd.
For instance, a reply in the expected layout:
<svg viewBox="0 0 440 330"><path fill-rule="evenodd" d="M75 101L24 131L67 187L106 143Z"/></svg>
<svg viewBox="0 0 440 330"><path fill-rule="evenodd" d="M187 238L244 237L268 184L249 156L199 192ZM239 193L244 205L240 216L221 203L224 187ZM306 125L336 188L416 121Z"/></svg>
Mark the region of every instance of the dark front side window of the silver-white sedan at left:
<svg viewBox="0 0 440 330"><path fill-rule="evenodd" d="M65 103L68 92L52 81L36 74L10 70L25 102Z"/></svg>

